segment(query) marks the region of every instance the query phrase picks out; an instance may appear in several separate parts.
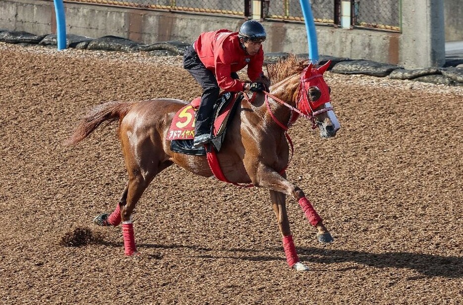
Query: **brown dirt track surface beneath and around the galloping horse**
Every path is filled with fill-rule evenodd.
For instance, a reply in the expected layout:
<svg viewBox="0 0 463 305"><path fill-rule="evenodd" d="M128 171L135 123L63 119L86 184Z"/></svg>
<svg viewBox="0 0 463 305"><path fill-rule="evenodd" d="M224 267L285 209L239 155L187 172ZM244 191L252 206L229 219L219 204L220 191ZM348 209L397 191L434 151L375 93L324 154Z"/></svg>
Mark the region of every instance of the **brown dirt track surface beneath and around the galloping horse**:
<svg viewBox="0 0 463 305"><path fill-rule="evenodd" d="M336 239L318 244L289 201L311 271L288 268L266 190L177 166L138 203L131 258L120 227L91 223L126 182L116 124L62 141L93 105L188 100L199 87L159 62L178 58L30 49L0 45L1 304L462 304L461 88L326 74L338 136L323 141L302 119L290 130L289 180ZM62 246L75 229L96 244Z"/></svg>

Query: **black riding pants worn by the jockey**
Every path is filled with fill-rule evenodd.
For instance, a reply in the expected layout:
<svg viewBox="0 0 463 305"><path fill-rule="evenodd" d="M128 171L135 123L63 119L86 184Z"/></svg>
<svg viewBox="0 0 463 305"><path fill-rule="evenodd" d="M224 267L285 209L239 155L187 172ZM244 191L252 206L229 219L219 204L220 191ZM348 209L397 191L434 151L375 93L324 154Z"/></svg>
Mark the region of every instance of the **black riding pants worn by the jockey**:
<svg viewBox="0 0 463 305"><path fill-rule="evenodd" d="M201 103L196 113L195 136L211 134L214 104L217 102L220 93L217 79L214 73L206 69L193 46L189 46L185 50L185 54L183 55L183 68L185 68L199 83L201 88L203 88ZM238 74L232 72L231 77L238 79Z"/></svg>

